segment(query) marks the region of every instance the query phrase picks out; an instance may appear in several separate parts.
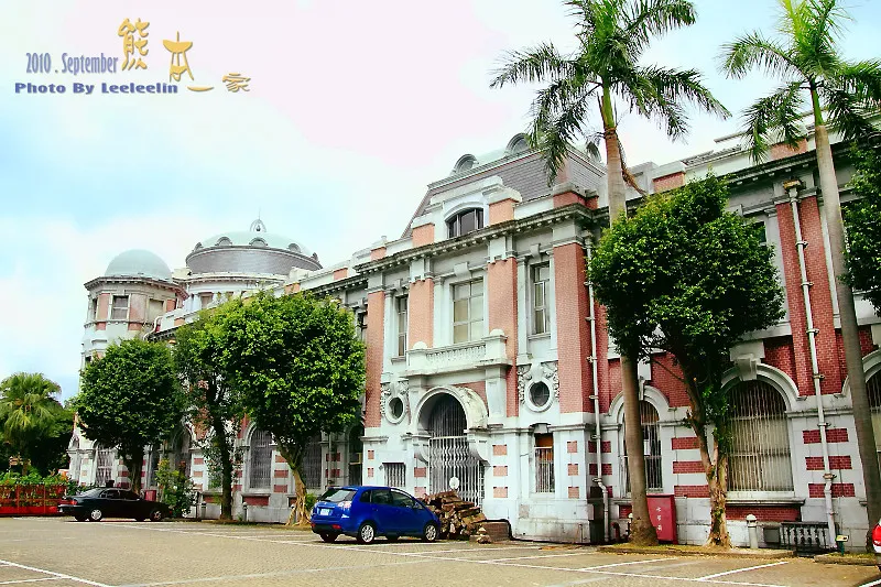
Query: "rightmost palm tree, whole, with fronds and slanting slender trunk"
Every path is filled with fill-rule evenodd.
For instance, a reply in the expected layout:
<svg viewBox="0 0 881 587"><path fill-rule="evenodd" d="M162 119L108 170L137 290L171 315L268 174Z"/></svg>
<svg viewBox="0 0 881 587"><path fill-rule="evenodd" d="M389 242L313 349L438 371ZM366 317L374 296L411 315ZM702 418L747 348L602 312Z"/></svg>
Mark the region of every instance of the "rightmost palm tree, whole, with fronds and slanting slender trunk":
<svg viewBox="0 0 881 587"><path fill-rule="evenodd" d="M772 95L759 99L744 112L746 135L755 161L761 161L769 145L780 139L790 146L796 146L798 140L806 135L802 123L806 105L809 105L814 116L823 208L829 232L835 293L862 460L869 528L872 528L881 518L881 477L866 392L853 293L842 279L847 272L844 222L829 145L829 128L839 132L846 141L874 130L870 117L878 112L881 99L881 62L850 63L840 55L837 42L848 14L838 0L779 2L779 37L771 39L757 31L724 45L722 69L728 76L740 79L758 68L781 80L781 86Z"/></svg>

